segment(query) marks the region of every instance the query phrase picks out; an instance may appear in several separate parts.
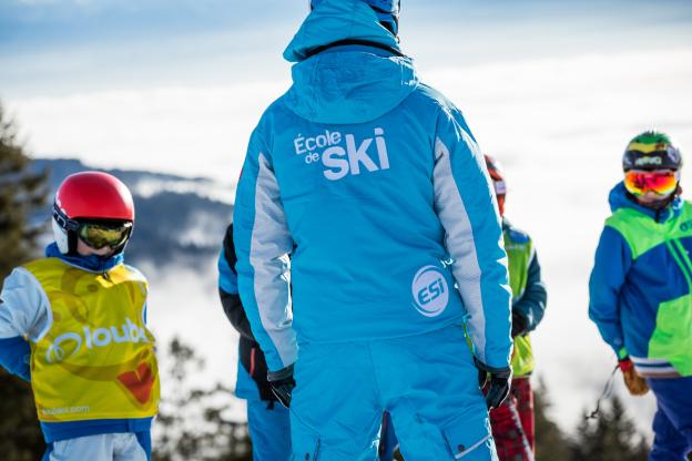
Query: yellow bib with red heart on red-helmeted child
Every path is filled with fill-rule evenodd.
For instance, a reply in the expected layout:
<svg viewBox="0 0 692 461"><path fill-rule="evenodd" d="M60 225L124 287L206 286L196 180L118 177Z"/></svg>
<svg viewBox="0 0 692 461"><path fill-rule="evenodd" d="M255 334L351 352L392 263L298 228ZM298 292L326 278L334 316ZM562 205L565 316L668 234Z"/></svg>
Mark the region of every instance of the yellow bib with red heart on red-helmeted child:
<svg viewBox="0 0 692 461"><path fill-rule="evenodd" d="M119 265L92 274L45 258L24 266L51 307L31 344L31 385L44 422L146 418L160 399L154 337L143 310L146 280Z"/></svg>

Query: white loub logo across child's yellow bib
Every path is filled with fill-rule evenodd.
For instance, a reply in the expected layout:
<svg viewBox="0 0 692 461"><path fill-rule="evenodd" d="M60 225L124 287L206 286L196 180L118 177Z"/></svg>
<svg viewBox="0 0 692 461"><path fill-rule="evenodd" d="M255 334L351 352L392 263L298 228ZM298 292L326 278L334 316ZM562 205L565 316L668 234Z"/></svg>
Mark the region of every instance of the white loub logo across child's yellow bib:
<svg viewBox="0 0 692 461"><path fill-rule="evenodd" d="M60 335L45 351L45 361L57 363L69 359L78 354L82 346L86 349L94 347L105 347L111 342L149 342L144 328L138 327L125 318L125 324L121 325L120 331L118 327L96 328L91 330L84 327L84 335L78 332L65 332Z"/></svg>

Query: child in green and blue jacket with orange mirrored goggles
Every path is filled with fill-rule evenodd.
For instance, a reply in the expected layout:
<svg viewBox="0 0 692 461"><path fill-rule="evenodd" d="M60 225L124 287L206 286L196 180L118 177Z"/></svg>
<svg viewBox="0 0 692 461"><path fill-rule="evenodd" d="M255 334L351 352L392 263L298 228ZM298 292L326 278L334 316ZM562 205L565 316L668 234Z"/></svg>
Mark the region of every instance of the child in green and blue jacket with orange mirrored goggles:
<svg viewBox="0 0 692 461"><path fill-rule="evenodd" d="M649 460L692 450L692 204L680 195L682 155L665 133L634 136L624 181L610 192L591 279L589 317L632 395L653 391Z"/></svg>

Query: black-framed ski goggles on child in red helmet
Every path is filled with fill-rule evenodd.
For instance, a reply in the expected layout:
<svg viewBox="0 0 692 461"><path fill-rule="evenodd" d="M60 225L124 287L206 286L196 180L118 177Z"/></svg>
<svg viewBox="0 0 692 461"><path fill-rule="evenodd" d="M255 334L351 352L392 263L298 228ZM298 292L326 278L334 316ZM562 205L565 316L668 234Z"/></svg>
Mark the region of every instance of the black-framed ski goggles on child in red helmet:
<svg viewBox="0 0 692 461"><path fill-rule="evenodd" d="M129 221L109 219L71 219L54 205L53 218L60 227L77 233L77 236L94 249L105 246L118 248L128 242L132 233L132 223Z"/></svg>

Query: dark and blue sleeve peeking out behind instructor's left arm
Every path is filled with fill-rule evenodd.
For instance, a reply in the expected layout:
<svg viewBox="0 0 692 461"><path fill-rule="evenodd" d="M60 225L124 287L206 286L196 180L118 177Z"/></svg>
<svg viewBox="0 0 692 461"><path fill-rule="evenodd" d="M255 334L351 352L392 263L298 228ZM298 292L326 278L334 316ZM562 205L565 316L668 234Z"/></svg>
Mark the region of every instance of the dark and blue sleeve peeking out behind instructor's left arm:
<svg viewBox="0 0 692 461"><path fill-rule="evenodd" d="M241 336L255 340L250 321L237 291L237 274L235 272L235 247L233 245L233 225L226 229L223 248L218 255L218 296L224 314Z"/></svg>

